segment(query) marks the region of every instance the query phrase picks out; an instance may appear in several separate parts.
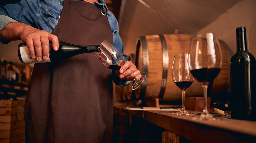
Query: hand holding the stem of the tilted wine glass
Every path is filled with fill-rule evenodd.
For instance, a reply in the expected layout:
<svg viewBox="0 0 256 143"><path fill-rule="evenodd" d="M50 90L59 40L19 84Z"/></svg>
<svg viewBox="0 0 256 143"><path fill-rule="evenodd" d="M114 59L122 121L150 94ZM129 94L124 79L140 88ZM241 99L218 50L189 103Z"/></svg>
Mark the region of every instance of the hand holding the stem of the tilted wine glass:
<svg viewBox="0 0 256 143"><path fill-rule="evenodd" d="M141 74L140 71L136 68L136 66L131 61L125 61L124 65L118 71L119 78L132 81L135 79L140 79Z"/></svg>

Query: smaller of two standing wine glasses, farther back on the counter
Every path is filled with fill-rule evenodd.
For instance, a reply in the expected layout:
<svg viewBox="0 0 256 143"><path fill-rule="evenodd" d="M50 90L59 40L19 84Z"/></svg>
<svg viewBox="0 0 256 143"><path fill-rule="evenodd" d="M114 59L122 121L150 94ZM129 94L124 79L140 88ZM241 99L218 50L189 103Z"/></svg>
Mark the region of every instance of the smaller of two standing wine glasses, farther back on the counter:
<svg viewBox="0 0 256 143"><path fill-rule="evenodd" d="M185 90L192 85L195 78L189 71L189 63L193 63L194 58L190 54L178 54L174 56L172 65L172 80L182 92L182 109L180 112L173 113L175 115L195 115L185 109ZM190 61L192 60L192 61Z"/></svg>

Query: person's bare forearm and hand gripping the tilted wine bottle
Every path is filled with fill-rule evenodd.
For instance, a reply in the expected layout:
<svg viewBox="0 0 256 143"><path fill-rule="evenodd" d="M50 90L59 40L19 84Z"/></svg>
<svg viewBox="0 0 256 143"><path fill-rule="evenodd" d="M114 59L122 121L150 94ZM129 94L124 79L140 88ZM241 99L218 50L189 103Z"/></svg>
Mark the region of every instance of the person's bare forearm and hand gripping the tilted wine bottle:
<svg viewBox="0 0 256 143"><path fill-rule="evenodd" d="M53 49L58 50L58 37L44 30L36 29L24 23L13 22L7 24L0 31L0 38L5 40L22 40L27 44L32 58L41 61L49 58L50 43L53 43Z"/></svg>

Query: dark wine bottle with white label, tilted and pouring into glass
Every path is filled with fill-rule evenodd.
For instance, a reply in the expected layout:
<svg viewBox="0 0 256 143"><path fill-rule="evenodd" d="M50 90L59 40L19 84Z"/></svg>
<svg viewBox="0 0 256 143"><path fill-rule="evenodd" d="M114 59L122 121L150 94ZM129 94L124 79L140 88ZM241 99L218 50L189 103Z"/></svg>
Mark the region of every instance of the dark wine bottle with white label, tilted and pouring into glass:
<svg viewBox="0 0 256 143"><path fill-rule="evenodd" d="M42 59L38 61L36 58L32 58L29 54L26 43L20 43L18 46L19 59L24 64L30 63L47 63L47 62L57 62L68 59L72 56L91 53L98 51L100 49L99 45L92 46L79 46L73 45L65 42L59 42L59 49L57 51L53 50L53 44L50 42L50 56L47 60Z"/></svg>

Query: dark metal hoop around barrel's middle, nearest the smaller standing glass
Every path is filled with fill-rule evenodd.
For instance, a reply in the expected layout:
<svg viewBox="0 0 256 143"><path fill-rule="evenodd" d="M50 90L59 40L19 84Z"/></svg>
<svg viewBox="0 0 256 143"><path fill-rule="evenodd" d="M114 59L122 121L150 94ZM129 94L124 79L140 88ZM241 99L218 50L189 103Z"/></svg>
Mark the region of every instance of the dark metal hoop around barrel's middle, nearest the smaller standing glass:
<svg viewBox="0 0 256 143"><path fill-rule="evenodd" d="M166 44L165 37L163 35L159 35L161 44L162 44L162 53L163 53L163 71L162 71L162 81L161 81L161 88L158 98L162 99L166 84L167 84L167 76L168 76L168 67L169 67L169 55L168 55L168 48Z"/></svg>

